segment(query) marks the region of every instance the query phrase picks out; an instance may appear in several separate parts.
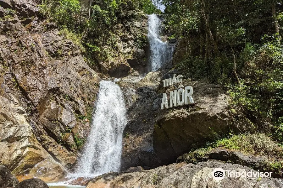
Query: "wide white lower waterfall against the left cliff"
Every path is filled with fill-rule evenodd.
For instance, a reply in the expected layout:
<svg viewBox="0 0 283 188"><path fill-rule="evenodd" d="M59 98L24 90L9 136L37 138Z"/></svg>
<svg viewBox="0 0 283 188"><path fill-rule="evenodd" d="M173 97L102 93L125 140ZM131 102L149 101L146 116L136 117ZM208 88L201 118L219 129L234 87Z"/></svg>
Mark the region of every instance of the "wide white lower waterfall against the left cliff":
<svg viewBox="0 0 283 188"><path fill-rule="evenodd" d="M119 171L125 126L126 108L120 87L112 81L101 81L91 132L78 164L77 176Z"/></svg>

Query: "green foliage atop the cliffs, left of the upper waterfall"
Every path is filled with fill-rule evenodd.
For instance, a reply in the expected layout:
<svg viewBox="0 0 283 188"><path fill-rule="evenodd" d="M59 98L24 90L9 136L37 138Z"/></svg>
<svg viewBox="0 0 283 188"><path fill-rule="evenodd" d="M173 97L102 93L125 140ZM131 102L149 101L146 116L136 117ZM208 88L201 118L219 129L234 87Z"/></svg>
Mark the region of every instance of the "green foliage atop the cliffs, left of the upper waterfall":
<svg viewBox="0 0 283 188"><path fill-rule="evenodd" d="M40 5L42 15L61 28L59 34L73 40L83 52L86 52L83 55L92 68L97 68L98 62L108 61L111 57L117 56L115 51L119 52L119 48L116 44L115 28L118 18L128 10L160 13L151 0L92 1L90 15L88 8L80 7L78 0L44 0ZM141 47L145 46L146 40L145 36L136 38L137 44Z"/></svg>

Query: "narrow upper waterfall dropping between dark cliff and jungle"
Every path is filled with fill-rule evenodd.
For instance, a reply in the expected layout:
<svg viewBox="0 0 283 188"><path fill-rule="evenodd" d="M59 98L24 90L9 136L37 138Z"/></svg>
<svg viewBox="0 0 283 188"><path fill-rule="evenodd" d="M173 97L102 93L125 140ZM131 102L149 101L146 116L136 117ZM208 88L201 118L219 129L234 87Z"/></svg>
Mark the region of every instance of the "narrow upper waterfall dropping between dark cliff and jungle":
<svg viewBox="0 0 283 188"><path fill-rule="evenodd" d="M157 71L162 65L171 59L172 51L166 42L160 39L162 21L156 14L148 15L148 40L150 45L149 62L151 71ZM168 53L169 52L169 53Z"/></svg>

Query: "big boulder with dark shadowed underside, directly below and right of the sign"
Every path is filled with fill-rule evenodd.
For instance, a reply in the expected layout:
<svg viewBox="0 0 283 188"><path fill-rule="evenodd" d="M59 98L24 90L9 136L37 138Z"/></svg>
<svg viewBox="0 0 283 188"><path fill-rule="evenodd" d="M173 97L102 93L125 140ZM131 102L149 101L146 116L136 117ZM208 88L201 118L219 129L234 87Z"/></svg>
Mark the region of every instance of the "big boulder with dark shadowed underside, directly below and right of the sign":
<svg viewBox="0 0 283 188"><path fill-rule="evenodd" d="M228 97L219 85L186 80L183 85L193 87L195 105L164 110L154 125L153 147L166 163L229 130Z"/></svg>

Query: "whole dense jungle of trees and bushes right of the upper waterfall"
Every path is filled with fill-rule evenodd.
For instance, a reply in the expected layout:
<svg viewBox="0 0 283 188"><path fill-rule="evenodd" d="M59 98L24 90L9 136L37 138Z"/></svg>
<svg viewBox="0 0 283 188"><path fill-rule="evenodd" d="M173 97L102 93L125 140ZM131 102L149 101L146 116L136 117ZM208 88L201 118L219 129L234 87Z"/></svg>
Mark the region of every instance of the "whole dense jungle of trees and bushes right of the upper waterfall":
<svg viewBox="0 0 283 188"><path fill-rule="evenodd" d="M174 64L187 78L221 84L241 133L283 144L281 0L159 0Z"/></svg>

